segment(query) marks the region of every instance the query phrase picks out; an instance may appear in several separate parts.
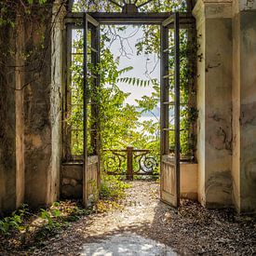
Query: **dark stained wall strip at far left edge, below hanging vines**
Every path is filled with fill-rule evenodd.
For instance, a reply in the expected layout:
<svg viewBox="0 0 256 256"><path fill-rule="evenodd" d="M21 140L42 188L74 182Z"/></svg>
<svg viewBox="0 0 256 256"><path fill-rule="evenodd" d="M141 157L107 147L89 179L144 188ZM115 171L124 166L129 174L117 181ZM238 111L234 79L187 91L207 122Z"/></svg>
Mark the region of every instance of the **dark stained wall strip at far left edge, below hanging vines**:
<svg viewBox="0 0 256 256"><path fill-rule="evenodd" d="M15 47L15 31L0 30L0 214L16 209L16 114L15 114L15 58L7 52Z"/></svg>

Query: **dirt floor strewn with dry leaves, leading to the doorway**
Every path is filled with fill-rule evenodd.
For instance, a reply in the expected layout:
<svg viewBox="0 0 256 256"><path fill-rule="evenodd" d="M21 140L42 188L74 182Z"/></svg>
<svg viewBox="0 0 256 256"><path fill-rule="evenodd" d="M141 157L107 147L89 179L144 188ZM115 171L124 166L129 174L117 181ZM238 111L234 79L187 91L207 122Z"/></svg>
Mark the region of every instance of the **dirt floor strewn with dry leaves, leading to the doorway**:
<svg viewBox="0 0 256 256"><path fill-rule="evenodd" d="M187 200L177 211L159 201L159 183L132 182L128 196L119 203L121 208L95 213L73 222L57 236L35 249L35 255L147 255L137 251L118 250L104 254L92 251L114 241L129 243L128 237L141 237L145 243L166 245L165 252L155 255L256 255L256 222L252 218L237 217L232 209L209 210ZM116 238L117 237L117 238ZM134 238L135 237L135 238ZM149 238L149 239L148 239ZM140 242L138 238L137 244ZM111 247L108 247L111 249ZM116 252L117 251L117 252ZM153 252L154 250L151 250ZM157 252L158 251L158 252ZM25 251L23 251L25 253ZM11 254L11 251L9 251ZM0 253L0 255L7 254ZM23 254L20 250L20 255ZM153 255L149 253L148 255Z"/></svg>

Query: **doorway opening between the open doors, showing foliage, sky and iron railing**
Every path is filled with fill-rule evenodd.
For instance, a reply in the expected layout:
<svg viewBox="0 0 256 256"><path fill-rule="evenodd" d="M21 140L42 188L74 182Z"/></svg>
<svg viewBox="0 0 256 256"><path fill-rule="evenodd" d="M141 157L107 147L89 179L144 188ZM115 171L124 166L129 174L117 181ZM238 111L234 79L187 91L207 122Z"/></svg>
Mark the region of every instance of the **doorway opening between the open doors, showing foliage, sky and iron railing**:
<svg viewBox="0 0 256 256"><path fill-rule="evenodd" d="M101 127L102 168L108 175L128 180L159 175L160 65L159 37L155 52L143 52L146 33L154 25L104 25L101 46L116 66L116 78L105 85L112 111ZM104 103L106 105L106 102Z"/></svg>

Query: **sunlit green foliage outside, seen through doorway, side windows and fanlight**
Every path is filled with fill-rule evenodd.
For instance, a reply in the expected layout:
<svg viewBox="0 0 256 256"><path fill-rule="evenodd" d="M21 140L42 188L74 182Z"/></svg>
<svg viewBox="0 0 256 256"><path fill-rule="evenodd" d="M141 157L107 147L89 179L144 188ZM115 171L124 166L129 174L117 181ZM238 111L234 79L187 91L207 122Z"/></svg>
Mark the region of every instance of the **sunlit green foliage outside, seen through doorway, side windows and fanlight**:
<svg viewBox="0 0 256 256"><path fill-rule="evenodd" d="M140 2L140 1L139 1ZM161 2L161 3L160 3ZM144 7L144 11L175 11L186 9L186 1L153 1L150 5ZM164 3L162 3L164 2ZM87 0L79 1L74 5L75 11L119 11L109 3L90 2ZM101 26L101 63L97 67L97 72L101 75L101 88L98 90L96 97L101 104L100 116L97 120L101 123L101 149L123 149L132 145L138 149L149 149L152 155L159 155L160 152L160 127L159 116L155 116L154 110L159 107L160 102L160 85L157 77L152 77L150 72L145 79L128 76L128 72L133 67L119 69L119 60L110 51L110 45L118 38L121 44L120 34L126 30L125 26ZM155 54L160 57L160 29L159 26L141 26L143 37L137 42L137 55ZM83 34L76 30L74 39L75 52L83 51ZM89 41L89 38L88 38ZM197 110L195 109L195 88L194 76L195 70L192 64L195 57L195 44L192 35L188 30L181 32L181 154L193 159L195 155L195 121ZM123 49L125 53L125 49ZM173 30L169 33L169 74L174 74L174 34ZM68 124L72 127L72 150L73 155L83 154L83 77L82 74L83 56L74 55L72 63L73 83L70 85L74 95L74 105L72 114L67 119ZM94 68L88 66L91 70ZM143 96L137 100L137 106L126 103L129 96L120 88L118 83L126 84L128 87L144 87L150 85L153 88L151 96ZM170 101L174 101L174 76L170 77ZM88 94L91 96L94 92L91 90ZM77 102L79 102L77 104ZM90 108L90 106L89 106ZM174 108L170 113L174 112ZM88 111L89 113L89 111ZM152 119L141 121L140 117L144 113L151 114ZM89 122L93 116L89 116ZM170 118L170 128L174 128L173 118ZM138 129L140 128L140 129ZM89 136L89 135L88 135ZM170 152L174 150L174 132L169 134ZM90 141L88 140L88 153ZM103 157L109 158L107 153ZM159 158L158 158L159 159ZM114 167L116 168L116 167Z"/></svg>

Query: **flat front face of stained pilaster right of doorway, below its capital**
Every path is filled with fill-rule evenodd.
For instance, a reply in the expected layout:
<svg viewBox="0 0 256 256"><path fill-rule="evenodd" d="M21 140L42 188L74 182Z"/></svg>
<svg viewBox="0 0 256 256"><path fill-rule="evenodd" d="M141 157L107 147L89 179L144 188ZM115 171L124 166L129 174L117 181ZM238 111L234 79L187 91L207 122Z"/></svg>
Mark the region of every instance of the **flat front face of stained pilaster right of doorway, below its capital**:
<svg viewBox="0 0 256 256"><path fill-rule="evenodd" d="M232 204L232 20L206 23L206 198L209 207L226 207Z"/></svg>

